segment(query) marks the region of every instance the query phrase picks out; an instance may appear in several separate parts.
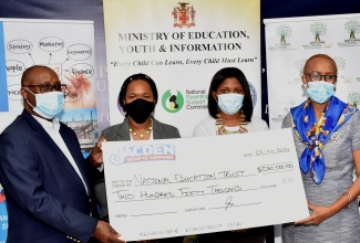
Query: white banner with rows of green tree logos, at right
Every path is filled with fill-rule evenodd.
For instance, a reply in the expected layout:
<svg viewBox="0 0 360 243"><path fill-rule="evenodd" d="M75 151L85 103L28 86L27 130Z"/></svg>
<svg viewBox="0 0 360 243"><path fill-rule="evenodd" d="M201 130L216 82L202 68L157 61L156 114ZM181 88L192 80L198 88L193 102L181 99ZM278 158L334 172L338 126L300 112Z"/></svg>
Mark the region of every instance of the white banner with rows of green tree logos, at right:
<svg viewBox="0 0 360 243"><path fill-rule="evenodd" d="M336 96L359 107L360 14L266 19L264 23L271 129L280 128L289 109L308 97L301 88L301 72L313 54L328 54L336 61Z"/></svg>

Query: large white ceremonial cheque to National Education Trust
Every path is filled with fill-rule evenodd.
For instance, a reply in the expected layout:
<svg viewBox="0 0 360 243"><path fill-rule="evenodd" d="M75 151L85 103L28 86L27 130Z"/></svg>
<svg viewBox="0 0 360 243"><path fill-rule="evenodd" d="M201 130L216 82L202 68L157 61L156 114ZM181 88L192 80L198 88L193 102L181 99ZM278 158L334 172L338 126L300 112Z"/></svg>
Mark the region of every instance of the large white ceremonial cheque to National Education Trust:
<svg viewBox="0 0 360 243"><path fill-rule="evenodd" d="M110 222L126 241L281 224L309 215L290 128L107 141L103 157Z"/></svg>

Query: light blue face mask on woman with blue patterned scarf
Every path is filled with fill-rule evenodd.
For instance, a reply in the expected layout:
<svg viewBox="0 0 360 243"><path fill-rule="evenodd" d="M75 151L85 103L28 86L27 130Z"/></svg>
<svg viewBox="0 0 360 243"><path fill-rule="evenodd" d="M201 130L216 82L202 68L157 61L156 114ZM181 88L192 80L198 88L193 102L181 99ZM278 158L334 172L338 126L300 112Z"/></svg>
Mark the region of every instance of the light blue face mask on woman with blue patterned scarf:
<svg viewBox="0 0 360 243"><path fill-rule="evenodd" d="M307 93L311 101L322 104L335 94L335 85L325 81L309 82Z"/></svg>

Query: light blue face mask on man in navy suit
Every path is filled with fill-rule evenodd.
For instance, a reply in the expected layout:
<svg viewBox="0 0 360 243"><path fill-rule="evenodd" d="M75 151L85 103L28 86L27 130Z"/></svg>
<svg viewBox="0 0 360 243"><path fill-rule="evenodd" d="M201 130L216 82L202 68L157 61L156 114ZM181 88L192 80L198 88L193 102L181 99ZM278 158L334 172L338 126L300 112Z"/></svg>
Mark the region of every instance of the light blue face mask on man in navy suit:
<svg viewBox="0 0 360 243"><path fill-rule="evenodd" d="M37 106L31 105L28 99L27 102L33 108L33 112L40 116L52 119L62 110L62 106L65 102L64 93L49 92L43 94L34 94L29 88L27 89L35 96Z"/></svg>

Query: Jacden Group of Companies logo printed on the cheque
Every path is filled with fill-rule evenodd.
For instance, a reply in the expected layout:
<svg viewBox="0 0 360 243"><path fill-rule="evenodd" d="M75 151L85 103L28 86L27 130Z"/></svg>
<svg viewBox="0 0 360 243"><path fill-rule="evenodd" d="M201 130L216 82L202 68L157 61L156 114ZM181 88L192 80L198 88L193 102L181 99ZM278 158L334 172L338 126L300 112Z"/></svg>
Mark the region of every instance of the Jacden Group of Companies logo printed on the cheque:
<svg viewBox="0 0 360 243"><path fill-rule="evenodd" d="M119 148L117 154L109 157L113 165L151 160L175 160L174 145L144 145Z"/></svg>

